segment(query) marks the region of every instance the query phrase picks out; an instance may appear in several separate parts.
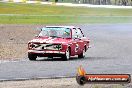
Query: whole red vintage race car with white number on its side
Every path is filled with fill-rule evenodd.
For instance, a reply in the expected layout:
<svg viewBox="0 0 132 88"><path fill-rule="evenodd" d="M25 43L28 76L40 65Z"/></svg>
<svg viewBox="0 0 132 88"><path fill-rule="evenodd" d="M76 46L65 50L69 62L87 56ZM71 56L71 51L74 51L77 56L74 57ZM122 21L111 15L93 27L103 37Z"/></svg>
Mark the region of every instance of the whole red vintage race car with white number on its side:
<svg viewBox="0 0 132 88"><path fill-rule="evenodd" d="M62 60L69 60L75 55L84 58L89 43L90 40L84 37L78 27L46 26L28 42L28 58L36 60L37 57L62 57Z"/></svg>

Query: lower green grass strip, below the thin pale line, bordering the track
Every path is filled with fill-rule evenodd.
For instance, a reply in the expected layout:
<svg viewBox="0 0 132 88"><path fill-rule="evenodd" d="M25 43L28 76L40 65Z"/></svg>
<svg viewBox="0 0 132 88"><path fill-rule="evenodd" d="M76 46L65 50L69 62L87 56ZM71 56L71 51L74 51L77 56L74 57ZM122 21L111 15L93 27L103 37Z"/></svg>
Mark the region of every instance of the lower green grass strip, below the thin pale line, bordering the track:
<svg viewBox="0 0 132 88"><path fill-rule="evenodd" d="M2 24L132 23L132 17L0 16Z"/></svg>

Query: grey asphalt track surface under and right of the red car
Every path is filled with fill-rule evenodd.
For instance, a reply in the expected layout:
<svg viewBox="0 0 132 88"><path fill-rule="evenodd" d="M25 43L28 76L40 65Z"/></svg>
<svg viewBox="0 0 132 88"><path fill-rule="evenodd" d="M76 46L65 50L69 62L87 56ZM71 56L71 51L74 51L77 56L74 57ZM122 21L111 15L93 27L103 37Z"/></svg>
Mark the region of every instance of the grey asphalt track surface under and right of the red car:
<svg viewBox="0 0 132 88"><path fill-rule="evenodd" d="M2 61L0 80L71 77L82 65L88 74L132 74L132 24L78 25L91 39L91 48L86 57L69 61L38 58L29 61Z"/></svg>

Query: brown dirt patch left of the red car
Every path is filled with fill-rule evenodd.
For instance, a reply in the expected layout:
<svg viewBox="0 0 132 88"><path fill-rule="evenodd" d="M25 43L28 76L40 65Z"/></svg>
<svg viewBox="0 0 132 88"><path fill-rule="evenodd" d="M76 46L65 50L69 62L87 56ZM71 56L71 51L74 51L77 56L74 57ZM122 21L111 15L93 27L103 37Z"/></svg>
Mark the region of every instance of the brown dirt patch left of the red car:
<svg viewBox="0 0 132 88"><path fill-rule="evenodd" d="M27 43L43 25L0 25L0 59L20 59L27 55Z"/></svg>

